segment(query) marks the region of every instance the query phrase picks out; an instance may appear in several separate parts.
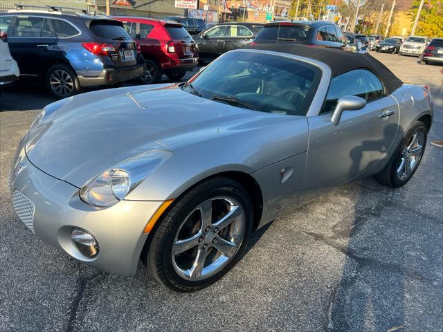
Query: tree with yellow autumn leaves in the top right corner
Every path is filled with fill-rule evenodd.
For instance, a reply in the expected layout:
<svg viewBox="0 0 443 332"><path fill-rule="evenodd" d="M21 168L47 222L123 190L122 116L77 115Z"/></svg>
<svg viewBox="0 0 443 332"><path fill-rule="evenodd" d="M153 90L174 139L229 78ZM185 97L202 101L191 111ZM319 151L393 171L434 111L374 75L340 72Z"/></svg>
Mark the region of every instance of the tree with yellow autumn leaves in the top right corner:
<svg viewBox="0 0 443 332"><path fill-rule="evenodd" d="M420 0L415 0L410 6L409 15L415 20ZM420 13L415 35L428 37L443 37L443 1L426 0Z"/></svg>

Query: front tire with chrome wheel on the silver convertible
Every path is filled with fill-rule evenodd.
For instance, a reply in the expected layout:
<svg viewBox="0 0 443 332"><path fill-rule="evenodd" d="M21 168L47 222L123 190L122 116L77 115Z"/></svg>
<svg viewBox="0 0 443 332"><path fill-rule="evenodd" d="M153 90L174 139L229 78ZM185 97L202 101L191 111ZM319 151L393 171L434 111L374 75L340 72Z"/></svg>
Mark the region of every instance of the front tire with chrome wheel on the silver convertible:
<svg viewBox="0 0 443 332"><path fill-rule="evenodd" d="M252 228L253 205L244 187L230 178L210 179L174 201L159 221L147 265L172 290L197 291L235 266Z"/></svg>

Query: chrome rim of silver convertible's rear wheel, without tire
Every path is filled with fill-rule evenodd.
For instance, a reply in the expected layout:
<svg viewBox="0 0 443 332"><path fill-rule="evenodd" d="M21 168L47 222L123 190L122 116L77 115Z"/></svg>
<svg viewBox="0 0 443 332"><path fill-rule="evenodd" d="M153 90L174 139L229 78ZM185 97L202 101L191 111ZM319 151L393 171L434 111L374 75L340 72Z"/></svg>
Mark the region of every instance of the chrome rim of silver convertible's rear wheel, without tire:
<svg viewBox="0 0 443 332"><path fill-rule="evenodd" d="M413 133L413 136L410 137L410 140L403 150L401 150L401 158L397 166L397 176L401 181L409 178L419 164L424 151L423 142L423 131L416 131Z"/></svg>

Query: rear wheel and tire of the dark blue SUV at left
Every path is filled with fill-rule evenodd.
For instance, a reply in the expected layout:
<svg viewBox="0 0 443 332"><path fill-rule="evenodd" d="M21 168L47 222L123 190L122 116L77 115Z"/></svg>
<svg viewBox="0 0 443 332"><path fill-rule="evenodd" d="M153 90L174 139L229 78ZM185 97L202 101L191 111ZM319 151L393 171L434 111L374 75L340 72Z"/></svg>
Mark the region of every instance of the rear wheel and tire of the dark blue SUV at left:
<svg viewBox="0 0 443 332"><path fill-rule="evenodd" d="M82 91L77 74L66 64L55 64L49 68L45 84L49 93L57 99L71 97Z"/></svg>

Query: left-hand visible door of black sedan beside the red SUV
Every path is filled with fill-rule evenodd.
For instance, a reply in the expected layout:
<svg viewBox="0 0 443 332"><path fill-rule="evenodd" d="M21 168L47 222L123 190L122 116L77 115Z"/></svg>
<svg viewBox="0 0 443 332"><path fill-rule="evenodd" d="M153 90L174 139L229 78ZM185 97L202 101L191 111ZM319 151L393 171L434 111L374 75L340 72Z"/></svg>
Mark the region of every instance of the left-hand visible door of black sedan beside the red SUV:
<svg viewBox="0 0 443 332"><path fill-rule="evenodd" d="M221 25L201 33L197 40L201 57L217 57L224 50L224 38L230 34L230 26Z"/></svg>

